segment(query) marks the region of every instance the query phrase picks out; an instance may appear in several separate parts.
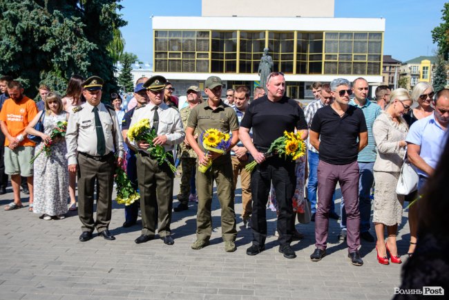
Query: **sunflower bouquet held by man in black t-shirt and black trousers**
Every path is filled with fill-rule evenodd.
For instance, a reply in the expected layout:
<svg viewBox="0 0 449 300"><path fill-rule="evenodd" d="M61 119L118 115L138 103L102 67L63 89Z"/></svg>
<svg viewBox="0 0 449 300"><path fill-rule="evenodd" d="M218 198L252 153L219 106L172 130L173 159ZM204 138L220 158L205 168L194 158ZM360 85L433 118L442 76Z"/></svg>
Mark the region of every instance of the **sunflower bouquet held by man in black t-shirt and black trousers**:
<svg viewBox="0 0 449 300"><path fill-rule="evenodd" d="M305 142L300 138L299 133L284 131L284 135L276 138L276 140L271 143L268 151L263 155L268 158L275 154L278 154L280 158L284 156L286 160L287 157L292 158L292 160L297 160L305 154ZM253 160L245 166L245 170L251 172L256 165L256 160Z"/></svg>

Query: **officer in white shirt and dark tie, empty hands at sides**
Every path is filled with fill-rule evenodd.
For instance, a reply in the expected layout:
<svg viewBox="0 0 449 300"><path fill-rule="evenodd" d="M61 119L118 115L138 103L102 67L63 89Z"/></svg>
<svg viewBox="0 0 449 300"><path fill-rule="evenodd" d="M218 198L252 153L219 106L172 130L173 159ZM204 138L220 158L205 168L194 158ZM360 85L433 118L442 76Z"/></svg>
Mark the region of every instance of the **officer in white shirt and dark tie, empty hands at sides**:
<svg viewBox="0 0 449 300"><path fill-rule="evenodd" d="M103 79L92 76L82 83L86 103L75 106L68 119L66 142L68 171L78 172L78 214L83 233L79 241L92 238L96 228L106 240L111 222L115 154L122 163L123 138L114 110L102 100ZM97 218L93 218L93 192L97 185Z"/></svg>

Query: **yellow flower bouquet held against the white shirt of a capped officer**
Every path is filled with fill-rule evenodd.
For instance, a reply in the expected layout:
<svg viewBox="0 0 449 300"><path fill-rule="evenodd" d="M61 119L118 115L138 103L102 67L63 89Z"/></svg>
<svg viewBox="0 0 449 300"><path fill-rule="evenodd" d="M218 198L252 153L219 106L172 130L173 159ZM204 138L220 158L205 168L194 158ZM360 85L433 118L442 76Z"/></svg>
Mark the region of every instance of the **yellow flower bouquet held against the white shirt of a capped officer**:
<svg viewBox="0 0 449 300"><path fill-rule="evenodd" d="M169 162L168 157L173 157L173 154L166 152L164 147L160 144L153 144L153 140L157 137L156 131L154 128L150 127L149 119L142 119L139 122L133 124L128 130L128 138L133 141L143 140L147 142L151 146L146 149L146 151L150 154L153 160L157 160L159 165L162 165L166 162L169 165L171 171L175 173L176 168Z"/></svg>

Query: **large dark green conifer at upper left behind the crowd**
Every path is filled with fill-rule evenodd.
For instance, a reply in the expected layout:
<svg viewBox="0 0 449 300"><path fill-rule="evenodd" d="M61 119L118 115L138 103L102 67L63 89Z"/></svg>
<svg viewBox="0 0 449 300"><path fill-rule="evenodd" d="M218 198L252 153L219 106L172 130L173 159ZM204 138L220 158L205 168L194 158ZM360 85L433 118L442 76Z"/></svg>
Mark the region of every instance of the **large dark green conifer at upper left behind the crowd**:
<svg viewBox="0 0 449 300"><path fill-rule="evenodd" d="M22 79L31 97L41 83L64 93L71 75L98 75L107 95L117 87L114 32L126 25L118 2L0 1L0 73Z"/></svg>

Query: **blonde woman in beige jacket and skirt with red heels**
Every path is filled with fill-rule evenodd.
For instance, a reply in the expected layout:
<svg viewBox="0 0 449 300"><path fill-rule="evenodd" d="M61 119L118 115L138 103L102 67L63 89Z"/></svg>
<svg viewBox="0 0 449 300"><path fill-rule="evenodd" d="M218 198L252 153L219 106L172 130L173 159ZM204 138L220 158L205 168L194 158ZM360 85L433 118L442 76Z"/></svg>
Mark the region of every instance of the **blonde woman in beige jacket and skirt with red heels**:
<svg viewBox="0 0 449 300"><path fill-rule="evenodd" d="M396 185L405 154L405 136L408 133L407 122L402 115L412 106L412 100L405 88L397 88L391 93L391 101L385 111L373 124L373 135L377 147L374 162L374 181L376 196L374 197L373 223L376 229L377 260L388 265L387 252L392 263L401 263L397 252L396 235L401 223L403 196L396 194ZM387 227L387 241L384 230Z"/></svg>

